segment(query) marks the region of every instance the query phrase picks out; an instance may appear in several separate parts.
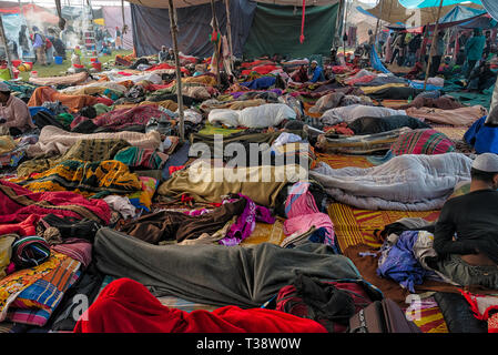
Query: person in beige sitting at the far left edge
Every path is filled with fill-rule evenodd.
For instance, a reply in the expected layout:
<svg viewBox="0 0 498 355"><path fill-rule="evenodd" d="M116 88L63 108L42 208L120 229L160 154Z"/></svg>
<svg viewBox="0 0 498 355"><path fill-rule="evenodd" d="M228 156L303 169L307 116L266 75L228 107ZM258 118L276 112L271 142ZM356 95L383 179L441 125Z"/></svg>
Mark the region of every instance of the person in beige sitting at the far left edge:
<svg viewBox="0 0 498 355"><path fill-rule="evenodd" d="M0 126L8 128L11 135L20 135L35 128L28 105L11 94L4 82L0 82Z"/></svg>

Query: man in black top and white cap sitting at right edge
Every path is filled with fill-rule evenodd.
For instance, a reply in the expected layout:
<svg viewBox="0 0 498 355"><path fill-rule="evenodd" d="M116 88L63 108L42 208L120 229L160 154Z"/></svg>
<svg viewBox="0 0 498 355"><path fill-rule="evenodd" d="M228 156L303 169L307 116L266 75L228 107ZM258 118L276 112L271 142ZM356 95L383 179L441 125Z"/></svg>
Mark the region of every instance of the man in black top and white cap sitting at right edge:
<svg viewBox="0 0 498 355"><path fill-rule="evenodd" d="M459 285L498 290L498 155L478 155L470 175L470 192L443 206L427 264Z"/></svg>

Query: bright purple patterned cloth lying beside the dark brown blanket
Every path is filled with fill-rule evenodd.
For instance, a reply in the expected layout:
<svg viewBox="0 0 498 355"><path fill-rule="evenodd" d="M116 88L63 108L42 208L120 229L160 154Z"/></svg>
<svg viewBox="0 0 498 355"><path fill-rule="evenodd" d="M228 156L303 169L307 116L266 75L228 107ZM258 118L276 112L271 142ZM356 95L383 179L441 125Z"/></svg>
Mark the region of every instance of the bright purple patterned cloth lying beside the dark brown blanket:
<svg viewBox="0 0 498 355"><path fill-rule="evenodd" d="M268 209L256 205L254 201L243 194L238 194L238 196L245 199L245 209L235 223L232 224L225 237L218 241L218 244L225 246L238 245L254 232L256 222L275 223L275 217L272 216Z"/></svg>

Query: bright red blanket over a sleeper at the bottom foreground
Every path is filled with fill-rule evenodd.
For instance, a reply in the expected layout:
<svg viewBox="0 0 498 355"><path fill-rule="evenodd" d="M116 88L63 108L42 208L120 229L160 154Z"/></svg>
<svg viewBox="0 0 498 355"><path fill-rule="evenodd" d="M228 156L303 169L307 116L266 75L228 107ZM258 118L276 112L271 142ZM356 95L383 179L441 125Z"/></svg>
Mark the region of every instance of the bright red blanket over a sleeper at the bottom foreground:
<svg viewBox="0 0 498 355"><path fill-rule="evenodd" d="M225 306L213 312L163 306L130 278L110 283L83 313L75 333L326 333L315 321L284 312Z"/></svg>

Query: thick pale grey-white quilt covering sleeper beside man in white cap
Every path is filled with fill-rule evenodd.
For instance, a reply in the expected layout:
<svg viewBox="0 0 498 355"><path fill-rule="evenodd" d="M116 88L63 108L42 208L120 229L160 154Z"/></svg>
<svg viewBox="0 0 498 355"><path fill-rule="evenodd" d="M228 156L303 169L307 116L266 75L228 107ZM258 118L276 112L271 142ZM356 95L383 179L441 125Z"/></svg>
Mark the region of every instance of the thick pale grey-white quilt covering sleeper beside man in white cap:
<svg viewBox="0 0 498 355"><path fill-rule="evenodd" d="M460 181L470 180L472 160L461 153L406 154L368 169L332 169L322 163L309 175L335 200L366 210L441 209Z"/></svg>

